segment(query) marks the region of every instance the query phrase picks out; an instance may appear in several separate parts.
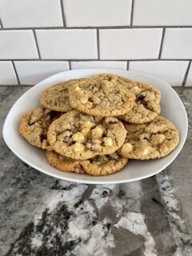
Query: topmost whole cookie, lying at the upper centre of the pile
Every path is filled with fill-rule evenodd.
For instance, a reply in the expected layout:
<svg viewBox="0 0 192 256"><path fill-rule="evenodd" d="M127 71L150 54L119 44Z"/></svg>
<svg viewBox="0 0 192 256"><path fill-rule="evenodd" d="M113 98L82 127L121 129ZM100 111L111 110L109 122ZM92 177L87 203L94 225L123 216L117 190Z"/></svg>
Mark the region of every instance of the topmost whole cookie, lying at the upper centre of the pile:
<svg viewBox="0 0 192 256"><path fill-rule="evenodd" d="M69 90L70 106L94 116L118 116L129 111L135 100L134 94L115 82L78 82Z"/></svg>

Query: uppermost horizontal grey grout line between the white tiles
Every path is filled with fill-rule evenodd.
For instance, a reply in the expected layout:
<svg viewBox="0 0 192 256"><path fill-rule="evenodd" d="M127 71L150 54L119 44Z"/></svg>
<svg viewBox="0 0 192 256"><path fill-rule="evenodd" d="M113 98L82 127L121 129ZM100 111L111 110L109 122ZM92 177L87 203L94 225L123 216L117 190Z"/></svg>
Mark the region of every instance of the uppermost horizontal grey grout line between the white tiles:
<svg viewBox="0 0 192 256"><path fill-rule="evenodd" d="M64 15L64 22L66 22L65 13L63 10ZM174 28L174 29L185 29L190 28L192 29L192 26L37 26L37 27L9 27L4 28L3 30L95 30L95 29L101 29L101 30L114 30L114 29L162 29L162 28Z"/></svg>

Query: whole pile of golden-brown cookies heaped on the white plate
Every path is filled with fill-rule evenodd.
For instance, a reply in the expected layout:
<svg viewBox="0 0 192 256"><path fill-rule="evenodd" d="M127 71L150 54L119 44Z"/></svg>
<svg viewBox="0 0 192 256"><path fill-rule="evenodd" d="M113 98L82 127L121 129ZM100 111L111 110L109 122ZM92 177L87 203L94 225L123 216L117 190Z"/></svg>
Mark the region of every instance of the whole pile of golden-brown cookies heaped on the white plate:
<svg viewBox="0 0 192 256"><path fill-rule="evenodd" d="M58 170L113 174L128 159L162 158L178 145L178 130L158 115L160 98L154 86L114 74L60 82L19 130Z"/></svg>

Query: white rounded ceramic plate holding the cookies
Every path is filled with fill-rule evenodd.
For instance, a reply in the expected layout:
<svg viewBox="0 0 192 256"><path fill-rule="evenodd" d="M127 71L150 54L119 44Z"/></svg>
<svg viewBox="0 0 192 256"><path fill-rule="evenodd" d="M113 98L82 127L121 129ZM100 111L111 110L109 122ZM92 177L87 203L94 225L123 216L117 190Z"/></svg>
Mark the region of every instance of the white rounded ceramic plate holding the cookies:
<svg viewBox="0 0 192 256"><path fill-rule="evenodd" d="M39 98L43 90L53 85L56 82L69 80L71 78L90 77L98 73L113 73L119 74L126 78L136 81L149 82L156 86L162 93L162 112L161 115L170 119L175 126L178 127L180 134L180 142L176 150L169 154L166 158L150 160L150 161L135 161L130 160L128 165L116 174L104 177L93 177L87 174L73 174L62 172L50 166L46 161L45 152L35 146L30 146L28 142L18 133L18 122L22 114L26 111L40 106ZM174 158L177 157L182 146L186 141L187 135L187 115L185 107L182 104L178 94L166 83L158 78L151 77L146 74L140 74L125 70L70 70L55 74L46 80L39 82L38 85L32 87L25 94L23 94L18 101L14 103L9 114L6 117L6 122L3 127L3 138L10 150L26 162L29 166L40 170L44 174L48 174L55 178L65 179L72 182L82 182L89 184L103 184L103 183L122 183L132 182L142 178L150 177L158 174L161 170L169 166Z"/></svg>

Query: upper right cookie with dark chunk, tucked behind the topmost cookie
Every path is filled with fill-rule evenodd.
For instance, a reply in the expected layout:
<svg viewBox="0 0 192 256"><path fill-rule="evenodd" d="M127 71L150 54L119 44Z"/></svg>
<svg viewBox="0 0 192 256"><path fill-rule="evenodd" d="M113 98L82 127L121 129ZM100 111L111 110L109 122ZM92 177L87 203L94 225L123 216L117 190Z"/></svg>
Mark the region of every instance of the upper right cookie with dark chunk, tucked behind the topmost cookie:
<svg viewBox="0 0 192 256"><path fill-rule="evenodd" d="M160 91L145 82L134 82L114 74L98 74L95 79L106 79L117 82L129 89L136 97L134 106L126 114L119 116L122 120L134 124L152 121L160 114Z"/></svg>

